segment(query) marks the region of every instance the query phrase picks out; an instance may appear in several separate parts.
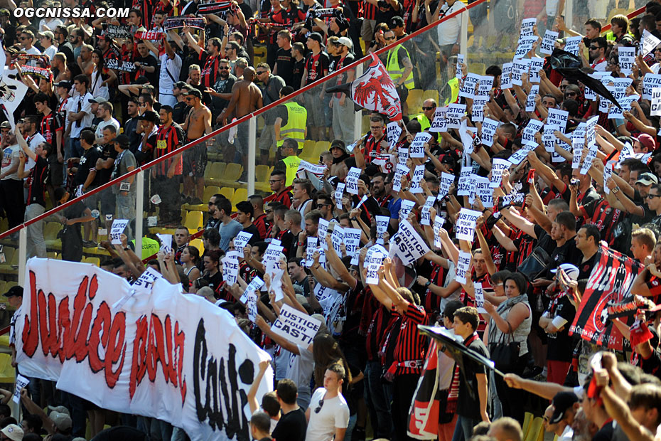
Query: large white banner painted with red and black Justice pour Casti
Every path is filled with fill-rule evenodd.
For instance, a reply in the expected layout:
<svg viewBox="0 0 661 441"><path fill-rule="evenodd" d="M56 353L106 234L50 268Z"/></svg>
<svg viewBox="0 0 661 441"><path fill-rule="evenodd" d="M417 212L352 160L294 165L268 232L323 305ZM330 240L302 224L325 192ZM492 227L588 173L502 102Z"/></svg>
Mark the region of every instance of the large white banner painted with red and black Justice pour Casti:
<svg viewBox="0 0 661 441"><path fill-rule="evenodd" d="M269 356L229 312L162 277L134 288L59 260L29 260L23 286L23 375L57 381L104 409L168 421L194 441L250 440L247 392ZM257 396L271 384L269 369Z"/></svg>

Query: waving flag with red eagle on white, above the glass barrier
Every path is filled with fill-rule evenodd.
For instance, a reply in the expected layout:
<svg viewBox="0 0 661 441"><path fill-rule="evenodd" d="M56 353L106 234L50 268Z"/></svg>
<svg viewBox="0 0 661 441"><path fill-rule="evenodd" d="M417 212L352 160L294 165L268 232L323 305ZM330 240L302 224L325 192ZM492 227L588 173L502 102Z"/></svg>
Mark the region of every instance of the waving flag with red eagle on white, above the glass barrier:
<svg viewBox="0 0 661 441"><path fill-rule="evenodd" d="M392 78L381 60L374 53L370 55L372 63L365 73L351 83L327 87L326 92L345 92L356 105L364 109L387 115L391 121L402 119L402 103Z"/></svg>

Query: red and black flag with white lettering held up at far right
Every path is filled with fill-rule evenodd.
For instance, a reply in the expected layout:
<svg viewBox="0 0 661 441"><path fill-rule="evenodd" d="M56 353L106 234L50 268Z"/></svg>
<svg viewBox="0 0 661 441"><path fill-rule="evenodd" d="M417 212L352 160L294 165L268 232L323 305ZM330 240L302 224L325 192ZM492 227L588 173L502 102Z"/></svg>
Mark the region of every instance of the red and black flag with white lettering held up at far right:
<svg viewBox="0 0 661 441"><path fill-rule="evenodd" d="M630 296L641 266L610 248L601 247L598 253L598 263L592 269L569 334L579 334L593 344L621 351L623 336L608 320L608 307Z"/></svg>

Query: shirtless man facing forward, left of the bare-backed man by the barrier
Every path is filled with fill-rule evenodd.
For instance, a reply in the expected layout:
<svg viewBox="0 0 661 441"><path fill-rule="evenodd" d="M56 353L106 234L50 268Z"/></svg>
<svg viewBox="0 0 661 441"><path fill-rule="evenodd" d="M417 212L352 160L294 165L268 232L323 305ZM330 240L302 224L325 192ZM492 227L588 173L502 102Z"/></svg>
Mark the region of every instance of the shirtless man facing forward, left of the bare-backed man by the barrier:
<svg viewBox="0 0 661 441"><path fill-rule="evenodd" d="M202 93L197 89L188 90L186 104L192 107L188 112L183 129L186 131L186 143L191 139L200 139L213 132L211 128L211 110L202 104ZM208 139L207 145L213 145ZM203 203L204 169L207 166L207 145L201 142L183 154L183 194L188 203Z"/></svg>

